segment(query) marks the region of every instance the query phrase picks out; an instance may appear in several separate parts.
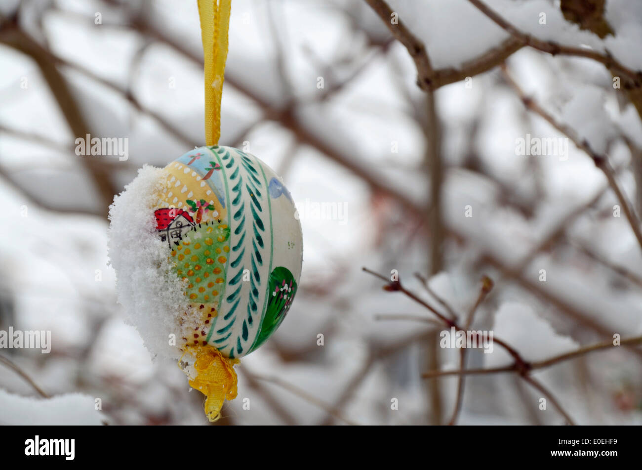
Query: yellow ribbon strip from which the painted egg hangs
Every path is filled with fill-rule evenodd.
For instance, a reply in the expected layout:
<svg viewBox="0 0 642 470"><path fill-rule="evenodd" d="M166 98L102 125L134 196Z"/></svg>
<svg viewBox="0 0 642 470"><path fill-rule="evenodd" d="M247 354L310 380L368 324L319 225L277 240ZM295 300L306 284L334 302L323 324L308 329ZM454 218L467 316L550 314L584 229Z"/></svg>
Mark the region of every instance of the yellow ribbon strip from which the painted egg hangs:
<svg viewBox="0 0 642 470"><path fill-rule="evenodd" d="M227 59L227 31L232 0L198 0L205 59L205 142L217 145L221 137L221 95Z"/></svg>

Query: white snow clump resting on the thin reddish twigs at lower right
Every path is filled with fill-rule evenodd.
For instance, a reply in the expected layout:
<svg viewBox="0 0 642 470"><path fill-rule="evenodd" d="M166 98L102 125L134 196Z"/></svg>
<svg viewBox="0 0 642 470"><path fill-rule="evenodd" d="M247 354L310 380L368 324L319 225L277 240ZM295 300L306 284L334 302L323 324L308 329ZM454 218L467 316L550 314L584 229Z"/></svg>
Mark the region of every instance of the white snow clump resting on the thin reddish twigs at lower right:
<svg viewBox="0 0 642 470"><path fill-rule="evenodd" d="M568 336L558 335L530 306L521 302L505 302L499 307L493 326L494 337L501 338L526 361L541 361L578 349L580 345ZM490 354L483 354L486 367L500 367L512 362L503 347L494 345Z"/></svg>

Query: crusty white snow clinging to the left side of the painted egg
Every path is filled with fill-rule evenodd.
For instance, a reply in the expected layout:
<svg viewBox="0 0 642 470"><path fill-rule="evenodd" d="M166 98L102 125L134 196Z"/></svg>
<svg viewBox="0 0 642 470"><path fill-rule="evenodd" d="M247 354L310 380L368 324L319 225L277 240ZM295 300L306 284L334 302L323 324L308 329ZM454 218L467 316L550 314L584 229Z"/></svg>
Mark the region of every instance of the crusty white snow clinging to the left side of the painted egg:
<svg viewBox="0 0 642 470"><path fill-rule="evenodd" d="M153 354L177 358L180 352L169 344L170 335L181 337L179 318L188 304L184 281L172 271L167 243L156 234L154 208L165 181L164 170L145 165L114 198L108 253L116 270L118 302L145 346Z"/></svg>

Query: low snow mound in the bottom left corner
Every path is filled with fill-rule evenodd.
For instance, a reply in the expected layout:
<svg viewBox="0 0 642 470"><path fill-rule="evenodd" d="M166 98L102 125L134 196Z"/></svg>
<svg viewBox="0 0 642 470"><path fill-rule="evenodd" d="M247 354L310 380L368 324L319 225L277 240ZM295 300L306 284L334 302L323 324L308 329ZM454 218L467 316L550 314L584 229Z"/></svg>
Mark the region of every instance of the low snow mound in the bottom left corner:
<svg viewBox="0 0 642 470"><path fill-rule="evenodd" d="M0 425L53 426L60 424L100 426L107 418L96 410L94 397L65 394L48 399L13 395L0 388Z"/></svg>

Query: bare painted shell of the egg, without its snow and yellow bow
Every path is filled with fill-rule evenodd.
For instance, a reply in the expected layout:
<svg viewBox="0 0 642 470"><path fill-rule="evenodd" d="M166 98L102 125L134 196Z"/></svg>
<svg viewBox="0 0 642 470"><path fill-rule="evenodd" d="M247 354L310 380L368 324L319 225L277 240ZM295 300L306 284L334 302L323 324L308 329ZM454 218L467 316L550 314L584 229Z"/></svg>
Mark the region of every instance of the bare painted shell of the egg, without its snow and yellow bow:
<svg viewBox="0 0 642 470"><path fill-rule="evenodd" d="M302 235L290 192L265 163L231 147L197 148L165 170L156 228L187 281L196 316L184 319L199 333L182 339L245 356L297 293Z"/></svg>

